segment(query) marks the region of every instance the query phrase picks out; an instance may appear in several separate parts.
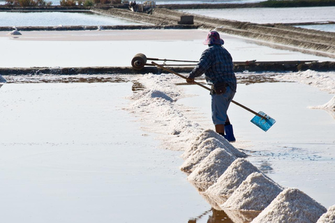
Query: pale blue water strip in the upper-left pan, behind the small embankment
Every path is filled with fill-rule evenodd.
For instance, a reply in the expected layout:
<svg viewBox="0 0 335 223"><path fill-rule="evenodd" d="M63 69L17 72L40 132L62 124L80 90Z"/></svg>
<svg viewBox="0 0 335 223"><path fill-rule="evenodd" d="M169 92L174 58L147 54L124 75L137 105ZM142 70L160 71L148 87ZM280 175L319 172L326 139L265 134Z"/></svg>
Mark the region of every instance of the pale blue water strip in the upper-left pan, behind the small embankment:
<svg viewBox="0 0 335 223"><path fill-rule="evenodd" d="M99 26L137 22L95 13L8 13L0 12L0 26Z"/></svg>

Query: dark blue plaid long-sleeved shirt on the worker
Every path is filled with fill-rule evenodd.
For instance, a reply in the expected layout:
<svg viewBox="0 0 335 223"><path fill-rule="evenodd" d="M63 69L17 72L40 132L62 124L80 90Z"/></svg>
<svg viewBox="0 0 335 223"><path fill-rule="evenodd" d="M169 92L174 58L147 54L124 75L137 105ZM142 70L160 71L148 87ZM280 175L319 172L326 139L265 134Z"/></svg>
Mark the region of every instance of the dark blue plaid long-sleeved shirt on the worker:
<svg viewBox="0 0 335 223"><path fill-rule="evenodd" d="M194 79L203 73L209 84L225 82L232 91L236 91L237 80L233 71L232 56L221 45L211 45L204 50L198 65L190 72L188 78Z"/></svg>

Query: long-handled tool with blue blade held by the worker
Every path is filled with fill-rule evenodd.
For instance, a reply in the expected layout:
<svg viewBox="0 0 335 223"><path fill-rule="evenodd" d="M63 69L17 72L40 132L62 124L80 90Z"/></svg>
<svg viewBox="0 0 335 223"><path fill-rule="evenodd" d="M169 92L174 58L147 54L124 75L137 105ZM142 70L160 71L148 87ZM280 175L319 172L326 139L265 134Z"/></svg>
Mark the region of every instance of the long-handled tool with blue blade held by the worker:
<svg viewBox="0 0 335 223"><path fill-rule="evenodd" d="M161 66L158 63L155 63L154 61L151 61L151 64L153 64L154 66L157 66L158 68L161 68L163 70L166 70L174 75L177 75L178 77L187 79L187 77L174 72L173 70L170 70L168 68L165 68L164 66ZM211 89L209 89L209 87L204 86L203 84L200 84L198 82L194 82L195 84L198 84L199 86L201 86L204 89L207 89L208 91L211 91ZM232 102L235 105L238 105L239 107L242 107L244 109L246 109L248 112L251 112L253 114L255 114L255 116L253 117L253 119L251 119L251 122L254 123L255 125L257 125L259 128L261 128L262 130L264 130L265 132L267 132L267 130L269 130L269 128L271 128L272 125L274 125L274 123L276 123L276 120L274 120L274 118L271 118L270 116L268 116L267 114L265 114L264 112L255 112L251 109L249 109L248 107L239 104L239 102L235 102L234 100L232 100Z"/></svg>

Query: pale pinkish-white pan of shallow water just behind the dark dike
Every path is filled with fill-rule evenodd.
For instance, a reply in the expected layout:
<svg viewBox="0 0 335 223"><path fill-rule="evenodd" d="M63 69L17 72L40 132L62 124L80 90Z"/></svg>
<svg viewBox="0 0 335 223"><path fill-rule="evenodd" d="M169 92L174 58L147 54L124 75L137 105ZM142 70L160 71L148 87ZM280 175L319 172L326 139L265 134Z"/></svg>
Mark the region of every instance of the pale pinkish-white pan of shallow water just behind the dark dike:
<svg viewBox="0 0 335 223"><path fill-rule="evenodd" d="M131 66L135 54L198 61L203 30L33 31L17 39L0 32L0 67ZM334 61L324 56L270 48L264 42L221 35L234 61ZM150 62L151 63L151 62Z"/></svg>

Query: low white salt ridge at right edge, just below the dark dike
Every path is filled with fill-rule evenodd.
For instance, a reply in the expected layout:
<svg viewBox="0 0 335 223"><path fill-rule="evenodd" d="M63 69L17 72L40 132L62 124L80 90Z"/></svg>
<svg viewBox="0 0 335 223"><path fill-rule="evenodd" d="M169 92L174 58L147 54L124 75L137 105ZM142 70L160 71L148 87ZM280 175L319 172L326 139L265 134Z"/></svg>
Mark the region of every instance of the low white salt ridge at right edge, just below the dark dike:
<svg viewBox="0 0 335 223"><path fill-rule="evenodd" d="M335 93L335 72L317 72L306 70L301 72L291 72L285 75L278 75L276 79L301 82L315 86L321 91Z"/></svg>

